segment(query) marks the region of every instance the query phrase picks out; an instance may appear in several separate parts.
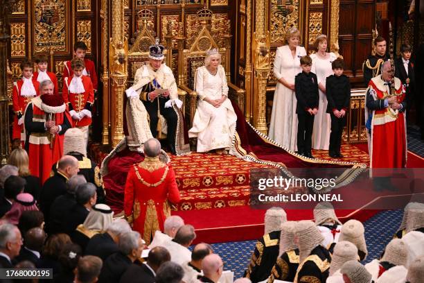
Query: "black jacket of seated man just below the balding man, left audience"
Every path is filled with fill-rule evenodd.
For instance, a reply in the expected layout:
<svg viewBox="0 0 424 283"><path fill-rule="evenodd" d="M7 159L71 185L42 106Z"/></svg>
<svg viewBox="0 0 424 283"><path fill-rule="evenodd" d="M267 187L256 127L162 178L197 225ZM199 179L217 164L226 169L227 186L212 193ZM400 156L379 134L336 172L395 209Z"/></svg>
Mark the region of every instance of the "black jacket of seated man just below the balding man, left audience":
<svg viewBox="0 0 424 283"><path fill-rule="evenodd" d="M74 205L76 205L75 196L69 193L58 196L53 201L50 207L50 219L48 220L50 234L65 233L68 230L68 225L64 219L71 213Z"/></svg>

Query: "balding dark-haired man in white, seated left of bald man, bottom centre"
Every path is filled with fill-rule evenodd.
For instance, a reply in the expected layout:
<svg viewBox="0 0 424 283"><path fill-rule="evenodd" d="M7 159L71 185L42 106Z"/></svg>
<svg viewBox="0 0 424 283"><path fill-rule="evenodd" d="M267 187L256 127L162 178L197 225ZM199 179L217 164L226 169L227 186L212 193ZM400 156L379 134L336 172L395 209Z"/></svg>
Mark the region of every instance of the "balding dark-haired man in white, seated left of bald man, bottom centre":
<svg viewBox="0 0 424 283"><path fill-rule="evenodd" d="M202 261L206 255L213 253L212 247L207 243L197 243L191 252L191 261L182 264L184 270L184 283L197 283L197 276L202 275Z"/></svg>

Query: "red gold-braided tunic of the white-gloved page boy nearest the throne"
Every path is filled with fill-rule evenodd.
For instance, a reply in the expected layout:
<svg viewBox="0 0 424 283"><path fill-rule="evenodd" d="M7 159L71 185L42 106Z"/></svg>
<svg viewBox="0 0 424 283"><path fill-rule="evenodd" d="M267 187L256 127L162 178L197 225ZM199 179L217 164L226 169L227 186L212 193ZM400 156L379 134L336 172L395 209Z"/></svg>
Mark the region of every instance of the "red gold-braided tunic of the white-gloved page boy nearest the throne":
<svg viewBox="0 0 424 283"><path fill-rule="evenodd" d="M69 106L69 111L81 112L87 109L91 112L94 103L94 89L91 80L87 76L81 76L82 85L84 85L85 92L82 94L74 94L69 92L69 85L71 85L72 77L64 78L62 96L65 103ZM73 127L82 127L91 125L91 117L85 116L81 120L72 119Z"/></svg>

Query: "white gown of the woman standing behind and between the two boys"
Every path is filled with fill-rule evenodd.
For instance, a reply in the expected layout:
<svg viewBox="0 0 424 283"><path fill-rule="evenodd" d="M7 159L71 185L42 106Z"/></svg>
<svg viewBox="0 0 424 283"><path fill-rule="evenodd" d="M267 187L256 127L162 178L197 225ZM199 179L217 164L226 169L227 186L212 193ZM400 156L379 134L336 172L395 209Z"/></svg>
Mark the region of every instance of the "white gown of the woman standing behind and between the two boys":
<svg viewBox="0 0 424 283"><path fill-rule="evenodd" d="M317 75L318 83L326 85L326 78L333 75L331 62L337 59L334 53L330 53L327 59L320 58L317 54L310 55L312 58L312 73ZM312 131L312 148L325 149L328 151L330 145L331 118L327 113L327 96L319 89L318 113L314 119L314 130Z"/></svg>

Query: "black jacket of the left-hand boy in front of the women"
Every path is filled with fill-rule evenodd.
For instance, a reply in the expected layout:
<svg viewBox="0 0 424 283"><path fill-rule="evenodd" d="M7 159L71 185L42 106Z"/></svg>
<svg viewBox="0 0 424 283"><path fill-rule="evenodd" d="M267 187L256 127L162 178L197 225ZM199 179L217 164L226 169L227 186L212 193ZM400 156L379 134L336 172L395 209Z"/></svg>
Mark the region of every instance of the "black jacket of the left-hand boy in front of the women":
<svg viewBox="0 0 424 283"><path fill-rule="evenodd" d="M301 72L294 78L294 89L297 98L297 114L308 114L308 108L318 108L319 92L317 75L312 72Z"/></svg>

